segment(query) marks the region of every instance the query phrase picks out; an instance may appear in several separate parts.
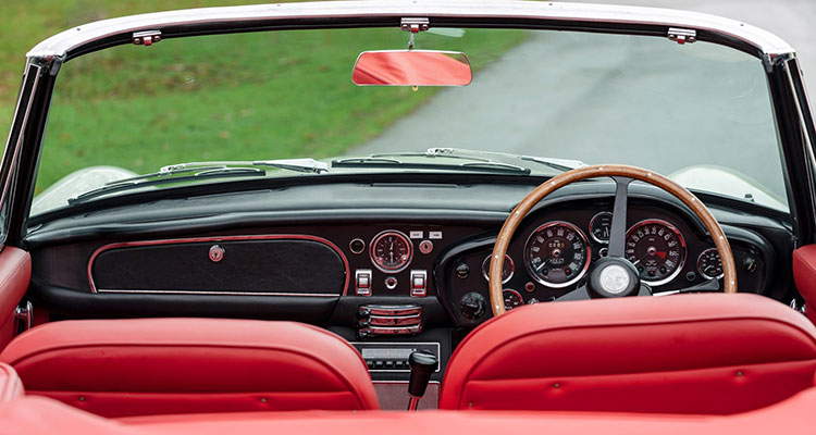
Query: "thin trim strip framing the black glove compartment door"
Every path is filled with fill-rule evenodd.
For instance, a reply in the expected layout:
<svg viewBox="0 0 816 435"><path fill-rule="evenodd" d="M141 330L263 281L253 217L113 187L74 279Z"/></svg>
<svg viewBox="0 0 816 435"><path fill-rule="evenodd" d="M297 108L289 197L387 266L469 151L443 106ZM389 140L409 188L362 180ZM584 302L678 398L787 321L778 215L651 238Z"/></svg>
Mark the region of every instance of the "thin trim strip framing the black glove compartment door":
<svg viewBox="0 0 816 435"><path fill-rule="evenodd" d="M345 279L343 283L343 293L339 295L325 295L325 294L288 294L288 293L243 293L243 291L201 291L201 295L244 295L244 296L254 296L254 295L263 295L263 296L313 296L313 297L325 297L325 298L336 298L341 296L346 296L348 293L348 282L349 282L349 265L348 265L348 259L346 258L346 254L343 253L343 251L333 243L329 241L327 239L323 237L318 236L310 236L307 234L262 234L262 235L248 235L248 236L211 236L211 237L190 237L190 238L169 238L169 239L158 239L158 240L138 240L138 241L122 241L122 243L115 243L115 244L109 244L104 245L100 248L98 248L96 251L94 251L92 254L90 254L90 259L88 259L88 285L90 286L90 293L151 293L151 294L177 294L177 295L199 295L199 293L189 293L186 290L120 290L120 289L97 289L96 284L94 283L94 260L99 257L100 253L111 250L111 249L121 249L121 248L132 248L137 246L159 246L159 245L180 245L180 244L197 244L197 243L205 243L205 241L235 241L235 240L311 240L311 241L318 241L321 243L330 248L332 248L343 260L343 266L345 268ZM198 291L198 290L190 290L190 291Z"/></svg>

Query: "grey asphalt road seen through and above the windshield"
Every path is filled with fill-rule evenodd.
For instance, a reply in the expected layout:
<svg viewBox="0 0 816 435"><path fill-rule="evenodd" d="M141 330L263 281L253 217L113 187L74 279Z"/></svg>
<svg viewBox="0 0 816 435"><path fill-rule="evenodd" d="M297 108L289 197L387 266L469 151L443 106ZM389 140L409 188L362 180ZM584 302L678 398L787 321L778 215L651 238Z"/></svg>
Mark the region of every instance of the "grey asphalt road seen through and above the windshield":
<svg viewBox="0 0 816 435"><path fill-rule="evenodd" d="M800 49L816 86L816 1L620 1L713 13L763 27ZM784 196L767 89L757 60L714 45L547 33L446 88L355 154L445 146L664 174L717 165ZM673 50L673 51L671 51ZM728 59L712 66L708 59ZM653 60L644 62L643 60Z"/></svg>

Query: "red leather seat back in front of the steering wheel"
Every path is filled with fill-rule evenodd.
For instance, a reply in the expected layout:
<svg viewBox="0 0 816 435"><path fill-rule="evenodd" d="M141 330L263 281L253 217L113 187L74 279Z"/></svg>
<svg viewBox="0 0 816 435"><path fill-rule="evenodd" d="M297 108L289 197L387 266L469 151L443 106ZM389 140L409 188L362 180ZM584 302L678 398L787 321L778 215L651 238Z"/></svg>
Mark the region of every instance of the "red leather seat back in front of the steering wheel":
<svg viewBox="0 0 816 435"><path fill-rule="evenodd" d="M814 385L816 328L756 295L539 303L457 348L440 408L729 414Z"/></svg>

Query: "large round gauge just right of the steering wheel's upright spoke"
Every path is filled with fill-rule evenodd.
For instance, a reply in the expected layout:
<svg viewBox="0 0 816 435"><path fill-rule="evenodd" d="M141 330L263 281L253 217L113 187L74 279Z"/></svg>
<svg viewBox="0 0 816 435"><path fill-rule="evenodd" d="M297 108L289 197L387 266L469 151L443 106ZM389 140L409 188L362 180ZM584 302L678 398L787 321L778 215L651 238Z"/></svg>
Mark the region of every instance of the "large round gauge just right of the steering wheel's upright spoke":
<svg viewBox="0 0 816 435"><path fill-rule="evenodd" d="M685 240L671 224L646 220L627 232L626 257L638 269L641 279L653 286L673 279L685 262Z"/></svg>

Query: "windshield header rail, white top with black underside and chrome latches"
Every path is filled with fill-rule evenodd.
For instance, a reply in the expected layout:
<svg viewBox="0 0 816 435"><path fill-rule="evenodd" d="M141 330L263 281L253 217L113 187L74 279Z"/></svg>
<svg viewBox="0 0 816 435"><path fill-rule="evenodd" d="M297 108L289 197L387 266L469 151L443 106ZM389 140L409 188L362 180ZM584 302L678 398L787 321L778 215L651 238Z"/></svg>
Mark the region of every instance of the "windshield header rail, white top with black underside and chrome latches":
<svg viewBox="0 0 816 435"><path fill-rule="evenodd" d="M726 45L759 59L794 53L771 33L695 12L533 1L371 0L202 8L103 20L57 34L26 55L40 62L57 61L59 67L88 52L132 44L133 34L139 32L161 32L161 38L168 39L282 28L399 27L405 16L428 17L437 27L527 27L662 37L670 27L681 27L695 30L697 40Z"/></svg>

